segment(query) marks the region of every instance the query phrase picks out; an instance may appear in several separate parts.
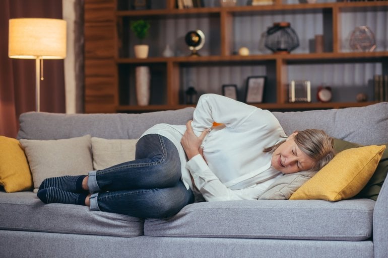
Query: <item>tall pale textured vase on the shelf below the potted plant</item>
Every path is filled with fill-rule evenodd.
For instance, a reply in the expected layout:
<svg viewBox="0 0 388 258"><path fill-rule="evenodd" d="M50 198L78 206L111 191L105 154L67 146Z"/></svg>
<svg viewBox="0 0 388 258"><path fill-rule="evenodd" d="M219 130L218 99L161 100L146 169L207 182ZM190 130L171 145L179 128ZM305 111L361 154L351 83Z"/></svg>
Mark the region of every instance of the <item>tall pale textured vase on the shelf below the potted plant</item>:
<svg viewBox="0 0 388 258"><path fill-rule="evenodd" d="M150 104L151 74L150 67L138 66L136 73L136 100L139 106Z"/></svg>

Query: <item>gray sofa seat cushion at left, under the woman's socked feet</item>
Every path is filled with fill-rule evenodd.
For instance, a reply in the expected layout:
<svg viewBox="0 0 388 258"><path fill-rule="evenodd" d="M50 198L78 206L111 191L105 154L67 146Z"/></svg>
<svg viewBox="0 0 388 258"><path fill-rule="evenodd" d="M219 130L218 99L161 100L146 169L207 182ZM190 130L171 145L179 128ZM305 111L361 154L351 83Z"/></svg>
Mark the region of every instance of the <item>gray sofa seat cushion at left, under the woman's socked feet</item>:
<svg viewBox="0 0 388 258"><path fill-rule="evenodd" d="M0 192L0 214L1 230L121 237L143 235L142 219L90 211L86 206L44 204L32 192Z"/></svg>

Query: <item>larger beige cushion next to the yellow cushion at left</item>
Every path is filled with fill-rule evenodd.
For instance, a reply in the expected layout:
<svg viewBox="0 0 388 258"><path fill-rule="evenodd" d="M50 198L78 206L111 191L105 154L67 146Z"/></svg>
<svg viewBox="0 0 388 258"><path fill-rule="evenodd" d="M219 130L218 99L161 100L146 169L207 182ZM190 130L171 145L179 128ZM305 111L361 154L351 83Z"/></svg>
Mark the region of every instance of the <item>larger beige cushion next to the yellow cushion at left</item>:
<svg viewBox="0 0 388 258"><path fill-rule="evenodd" d="M59 140L21 139L20 143L30 164L34 192L46 178L86 175L93 170L90 135Z"/></svg>

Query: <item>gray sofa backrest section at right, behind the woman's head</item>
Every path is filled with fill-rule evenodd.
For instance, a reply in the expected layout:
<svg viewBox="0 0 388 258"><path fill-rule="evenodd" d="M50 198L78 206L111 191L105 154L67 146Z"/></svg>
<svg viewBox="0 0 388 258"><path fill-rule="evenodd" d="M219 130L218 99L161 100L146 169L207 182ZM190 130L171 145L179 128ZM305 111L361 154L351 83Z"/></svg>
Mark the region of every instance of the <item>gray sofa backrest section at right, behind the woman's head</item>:
<svg viewBox="0 0 388 258"><path fill-rule="evenodd" d="M273 112L287 134L317 128L330 136L363 145L388 143L388 103L366 107Z"/></svg>

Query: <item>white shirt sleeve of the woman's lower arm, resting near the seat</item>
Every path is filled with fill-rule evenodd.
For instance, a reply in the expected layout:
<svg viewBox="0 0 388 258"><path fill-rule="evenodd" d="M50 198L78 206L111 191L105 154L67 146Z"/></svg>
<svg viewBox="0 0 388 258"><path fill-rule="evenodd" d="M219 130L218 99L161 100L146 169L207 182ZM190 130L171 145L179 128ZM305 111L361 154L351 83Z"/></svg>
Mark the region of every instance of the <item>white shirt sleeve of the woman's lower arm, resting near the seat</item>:
<svg viewBox="0 0 388 258"><path fill-rule="evenodd" d="M192 157L185 167L190 171L196 187L206 201L243 200L221 183L200 154Z"/></svg>

